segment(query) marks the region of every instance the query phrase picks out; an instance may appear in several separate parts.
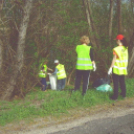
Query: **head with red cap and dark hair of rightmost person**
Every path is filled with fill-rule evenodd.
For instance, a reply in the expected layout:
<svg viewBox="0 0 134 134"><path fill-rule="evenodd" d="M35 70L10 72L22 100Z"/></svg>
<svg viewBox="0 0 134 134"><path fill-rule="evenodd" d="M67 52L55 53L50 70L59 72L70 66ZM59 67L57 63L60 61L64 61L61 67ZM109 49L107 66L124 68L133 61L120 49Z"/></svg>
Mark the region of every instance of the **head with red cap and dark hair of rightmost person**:
<svg viewBox="0 0 134 134"><path fill-rule="evenodd" d="M116 40L117 40L117 44L118 45L123 45L125 47L128 47L127 40L126 40L126 38L122 34L118 34L116 36Z"/></svg>

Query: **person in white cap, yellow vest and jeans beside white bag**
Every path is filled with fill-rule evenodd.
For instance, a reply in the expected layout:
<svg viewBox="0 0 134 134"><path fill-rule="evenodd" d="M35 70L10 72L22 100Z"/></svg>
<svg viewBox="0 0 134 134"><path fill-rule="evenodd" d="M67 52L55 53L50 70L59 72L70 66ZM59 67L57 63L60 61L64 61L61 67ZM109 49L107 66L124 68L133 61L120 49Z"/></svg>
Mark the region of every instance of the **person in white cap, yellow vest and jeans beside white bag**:
<svg viewBox="0 0 134 134"><path fill-rule="evenodd" d="M58 60L54 61L56 65L54 75L57 75L57 90L63 90L66 84L66 71L64 65L60 64Z"/></svg>

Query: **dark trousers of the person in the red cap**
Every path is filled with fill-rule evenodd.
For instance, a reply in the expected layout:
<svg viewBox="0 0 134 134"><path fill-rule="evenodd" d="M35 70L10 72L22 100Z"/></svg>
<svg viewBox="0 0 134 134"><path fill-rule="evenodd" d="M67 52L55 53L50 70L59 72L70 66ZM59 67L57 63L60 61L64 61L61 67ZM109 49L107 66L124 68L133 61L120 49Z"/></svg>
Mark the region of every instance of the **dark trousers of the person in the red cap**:
<svg viewBox="0 0 134 134"><path fill-rule="evenodd" d="M118 87L120 85L122 97L126 97L126 84L124 75L116 75L113 73L113 84L114 84L114 98L118 98Z"/></svg>

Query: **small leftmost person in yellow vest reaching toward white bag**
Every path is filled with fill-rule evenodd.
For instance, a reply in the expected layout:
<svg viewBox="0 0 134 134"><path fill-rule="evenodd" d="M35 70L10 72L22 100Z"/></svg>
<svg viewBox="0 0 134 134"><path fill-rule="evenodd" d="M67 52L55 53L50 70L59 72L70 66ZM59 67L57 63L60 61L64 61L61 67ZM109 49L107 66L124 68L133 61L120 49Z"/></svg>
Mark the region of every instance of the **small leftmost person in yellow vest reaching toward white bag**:
<svg viewBox="0 0 134 134"><path fill-rule="evenodd" d="M47 70L53 71L52 69L47 67L47 61L40 64L40 72L38 74L39 78L41 78L41 84L42 84L42 91L46 91L47 88L47 82L46 82L46 76L47 76Z"/></svg>

